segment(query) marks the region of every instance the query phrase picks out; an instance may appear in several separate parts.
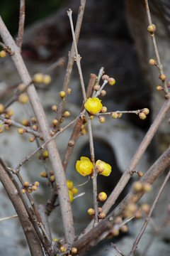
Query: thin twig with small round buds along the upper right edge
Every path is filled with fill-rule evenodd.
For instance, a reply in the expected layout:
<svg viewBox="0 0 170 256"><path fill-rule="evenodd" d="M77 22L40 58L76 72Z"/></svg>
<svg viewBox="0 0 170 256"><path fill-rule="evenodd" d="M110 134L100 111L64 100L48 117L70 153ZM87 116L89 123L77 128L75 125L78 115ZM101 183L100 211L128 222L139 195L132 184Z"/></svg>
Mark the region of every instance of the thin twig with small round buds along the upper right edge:
<svg viewBox="0 0 170 256"><path fill-rule="evenodd" d="M150 15L149 4L148 4L147 0L145 0L145 9L147 11L148 23L149 23L149 25L152 25L152 18L151 18L151 15ZM153 46L154 46L154 53L155 53L156 58L157 58L157 63L158 63L157 68L159 69L160 75L164 75L163 65L162 65L160 57L159 57L159 51L158 51L158 48L157 48L157 42L156 42L156 38L154 36L154 33L152 33L151 38L152 38L152 43L153 43ZM164 87L165 96L169 97L169 89L166 85L166 80L162 80L162 85Z"/></svg>

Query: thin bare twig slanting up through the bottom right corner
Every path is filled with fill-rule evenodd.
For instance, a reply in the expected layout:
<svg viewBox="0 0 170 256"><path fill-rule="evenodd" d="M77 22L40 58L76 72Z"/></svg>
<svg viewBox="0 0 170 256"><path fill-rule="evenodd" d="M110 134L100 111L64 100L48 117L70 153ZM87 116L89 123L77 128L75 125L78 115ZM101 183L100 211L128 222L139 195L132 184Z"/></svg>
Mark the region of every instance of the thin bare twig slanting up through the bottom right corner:
<svg viewBox="0 0 170 256"><path fill-rule="evenodd" d="M142 238L142 235L143 233L145 232L145 229L147 228L147 224L149 223L149 220L151 218L151 215L152 215L152 212L157 204L157 201L159 200L159 197L161 196L162 194L162 191L164 190L164 187L166 186L166 183L167 181L169 180L169 177L170 177L170 170L168 172L168 174L166 175L165 179L164 179L164 182L162 183L162 186L161 188L159 189L159 192L157 193L157 196L156 198L154 199L154 203L152 204L152 207L150 208L149 210L149 214L147 215L147 218L145 220L145 223L144 225L142 226L142 229L140 230L140 233L139 235L137 236L137 239L135 240L135 242L133 243L133 247L132 247L132 250L130 252L130 256L134 255L135 253L135 250L137 248L137 245L138 243L140 242L140 239Z"/></svg>

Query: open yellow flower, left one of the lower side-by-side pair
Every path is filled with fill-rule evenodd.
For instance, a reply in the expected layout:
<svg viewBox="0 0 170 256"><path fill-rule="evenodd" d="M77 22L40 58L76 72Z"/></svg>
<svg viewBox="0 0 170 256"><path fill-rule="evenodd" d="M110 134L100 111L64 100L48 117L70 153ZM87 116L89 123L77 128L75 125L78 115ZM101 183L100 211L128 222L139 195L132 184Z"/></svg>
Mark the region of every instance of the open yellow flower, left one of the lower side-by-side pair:
<svg viewBox="0 0 170 256"><path fill-rule="evenodd" d="M92 173L94 165L88 157L81 156L81 159L77 161L76 169L79 174L86 176Z"/></svg>

